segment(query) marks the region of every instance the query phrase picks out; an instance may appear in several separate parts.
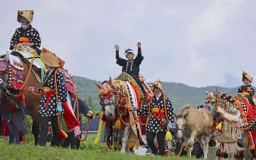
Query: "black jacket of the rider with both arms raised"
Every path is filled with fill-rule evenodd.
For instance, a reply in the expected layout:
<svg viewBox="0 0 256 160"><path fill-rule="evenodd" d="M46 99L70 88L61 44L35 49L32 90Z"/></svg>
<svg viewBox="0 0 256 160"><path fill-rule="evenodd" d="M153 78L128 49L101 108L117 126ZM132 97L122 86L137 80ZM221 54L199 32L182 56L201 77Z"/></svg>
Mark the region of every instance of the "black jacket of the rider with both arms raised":
<svg viewBox="0 0 256 160"><path fill-rule="evenodd" d="M138 76L139 75L139 65L142 63L142 60L144 57L142 56L142 48L138 48L138 54L136 58L132 61L132 63L129 63L128 60L125 60L123 58L119 57L119 50L116 50L116 59L117 64L122 66L122 72L127 73L132 76ZM132 68L131 68L132 66Z"/></svg>

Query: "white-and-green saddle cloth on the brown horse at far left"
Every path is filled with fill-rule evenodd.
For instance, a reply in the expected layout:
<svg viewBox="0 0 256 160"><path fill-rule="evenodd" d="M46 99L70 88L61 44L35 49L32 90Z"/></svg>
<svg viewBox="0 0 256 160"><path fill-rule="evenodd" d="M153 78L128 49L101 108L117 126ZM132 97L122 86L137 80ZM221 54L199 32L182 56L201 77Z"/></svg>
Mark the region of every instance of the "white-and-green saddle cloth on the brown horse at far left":
<svg viewBox="0 0 256 160"><path fill-rule="evenodd" d="M22 52L22 51L18 51L18 50L13 50L11 52L11 55L14 55L14 56L20 58L28 65L31 64L31 60L33 58L33 54L29 53L28 51ZM36 55L36 58L34 58L34 60L33 60L33 65L32 65L31 71L32 71L33 75L35 75L36 80L38 80L38 82L42 83L43 76L47 72L47 69L46 69L46 66L44 65L44 63L40 60L38 55Z"/></svg>

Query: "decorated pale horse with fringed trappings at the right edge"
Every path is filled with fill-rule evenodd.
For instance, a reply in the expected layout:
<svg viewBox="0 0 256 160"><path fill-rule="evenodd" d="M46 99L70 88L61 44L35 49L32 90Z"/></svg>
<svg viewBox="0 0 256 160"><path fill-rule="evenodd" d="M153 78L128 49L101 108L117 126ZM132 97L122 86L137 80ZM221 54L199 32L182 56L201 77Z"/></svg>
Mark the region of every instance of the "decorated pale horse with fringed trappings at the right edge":
<svg viewBox="0 0 256 160"><path fill-rule="evenodd" d="M215 127L216 139L223 144L221 151L227 153L230 159L242 151L245 159L252 158L250 150L255 149L253 133L245 132L240 126L247 125L254 119L252 109L247 98L238 94L230 96L223 92L206 92L206 104L213 110L215 117L223 119Z"/></svg>

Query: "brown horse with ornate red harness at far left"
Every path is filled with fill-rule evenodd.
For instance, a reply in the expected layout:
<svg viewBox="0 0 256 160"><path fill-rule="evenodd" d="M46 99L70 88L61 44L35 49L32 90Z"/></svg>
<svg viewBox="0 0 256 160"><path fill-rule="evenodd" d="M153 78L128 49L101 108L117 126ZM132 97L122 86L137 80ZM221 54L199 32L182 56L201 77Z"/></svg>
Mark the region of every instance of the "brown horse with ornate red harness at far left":
<svg viewBox="0 0 256 160"><path fill-rule="evenodd" d="M18 58L21 62L12 62L10 56ZM41 100L40 90L43 90L41 83L43 75L41 75L41 68L32 65L29 60L34 62L36 58L33 55L30 58L25 58L18 51L12 51L11 54L7 53L0 56L0 92L13 104L16 104L17 95L24 95L26 114L31 115L33 119L32 132L34 144L37 145L40 132L39 105ZM18 70L17 65L22 67L23 70ZM17 88L17 83L20 83L19 86L21 87L22 85L23 88Z"/></svg>

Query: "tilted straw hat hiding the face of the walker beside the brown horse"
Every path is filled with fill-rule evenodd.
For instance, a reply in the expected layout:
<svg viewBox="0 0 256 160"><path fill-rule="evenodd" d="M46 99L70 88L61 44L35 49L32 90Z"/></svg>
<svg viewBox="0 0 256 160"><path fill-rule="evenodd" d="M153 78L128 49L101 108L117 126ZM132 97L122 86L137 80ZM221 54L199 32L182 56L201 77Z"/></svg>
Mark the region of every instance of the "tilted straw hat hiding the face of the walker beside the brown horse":
<svg viewBox="0 0 256 160"><path fill-rule="evenodd" d="M50 50L47 50L46 48L43 48L43 50L40 53L40 58L46 65L52 67L52 68L61 68L65 61L60 59L55 53L50 52Z"/></svg>

